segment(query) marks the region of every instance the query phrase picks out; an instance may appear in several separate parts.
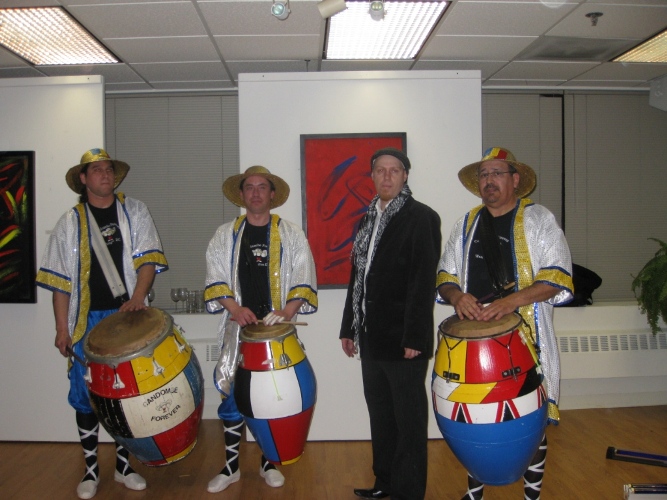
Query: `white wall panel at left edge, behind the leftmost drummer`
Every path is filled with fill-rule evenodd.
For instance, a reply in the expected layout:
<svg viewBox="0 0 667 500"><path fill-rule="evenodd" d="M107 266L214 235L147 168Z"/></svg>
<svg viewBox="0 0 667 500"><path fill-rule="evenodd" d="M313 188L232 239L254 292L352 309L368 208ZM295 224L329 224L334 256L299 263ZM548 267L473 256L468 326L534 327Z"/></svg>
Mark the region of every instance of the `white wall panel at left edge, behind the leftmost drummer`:
<svg viewBox="0 0 667 500"><path fill-rule="evenodd" d="M0 80L0 150L35 151L37 264L49 232L76 201L65 173L104 144L100 76ZM0 440L77 440L67 362L54 347L51 292L0 304Z"/></svg>

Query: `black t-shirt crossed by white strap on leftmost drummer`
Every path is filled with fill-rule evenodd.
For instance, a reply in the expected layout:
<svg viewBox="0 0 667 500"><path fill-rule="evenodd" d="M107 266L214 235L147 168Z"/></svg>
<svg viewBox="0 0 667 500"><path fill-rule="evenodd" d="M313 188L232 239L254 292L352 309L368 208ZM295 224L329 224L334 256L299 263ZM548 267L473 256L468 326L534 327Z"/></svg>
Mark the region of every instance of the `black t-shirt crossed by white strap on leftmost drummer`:
<svg viewBox="0 0 667 500"><path fill-rule="evenodd" d="M123 285L127 287L125 276L123 274L123 237L120 232L120 226L118 225L116 203L113 203L109 208L97 208L92 205L88 205L88 207L99 226L98 229L92 224L90 230L100 231L102 233L102 239L107 244L107 248L116 265L118 274L123 280ZM88 285L90 286L90 310L104 311L107 309L119 308L123 301L121 298L114 298L111 293L109 283L102 272L100 261L97 259L97 255L95 255L92 246L90 256L90 278L88 280Z"/></svg>

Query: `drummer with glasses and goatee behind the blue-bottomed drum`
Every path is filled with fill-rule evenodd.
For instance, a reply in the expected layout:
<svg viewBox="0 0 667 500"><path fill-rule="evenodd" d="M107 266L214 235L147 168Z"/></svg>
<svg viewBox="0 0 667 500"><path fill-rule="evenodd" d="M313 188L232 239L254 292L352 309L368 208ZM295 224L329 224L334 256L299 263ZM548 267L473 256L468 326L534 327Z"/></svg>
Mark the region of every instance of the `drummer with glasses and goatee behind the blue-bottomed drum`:
<svg viewBox="0 0 667 500"><path fill-rule="evenodd" d="M572 259L553 214L525 198L535 172L504 148L488 149L459 179L482 198L452 229L438 264L439 301L459 318L489 321L518 311L540 351L548 393L548 421L557 424L560 362L553 306L572 300ZM546 435L524 474L527 499L540 496ZM468 475L464 499L481 499L484 485Z"/></svg>

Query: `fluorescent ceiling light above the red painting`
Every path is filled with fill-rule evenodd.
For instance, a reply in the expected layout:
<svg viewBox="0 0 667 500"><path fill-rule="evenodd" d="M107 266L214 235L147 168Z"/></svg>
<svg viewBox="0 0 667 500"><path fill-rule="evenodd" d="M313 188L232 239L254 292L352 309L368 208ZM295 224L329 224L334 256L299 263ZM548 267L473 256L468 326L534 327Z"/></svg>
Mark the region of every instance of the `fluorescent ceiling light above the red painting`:
<svg viewBox="0 0 667 500"><path fill-rule="evenodd" d="M413 59L447 2L384 2L384 19L374 21L370 2L347 1L347 9L329 19L326 59Z"/></svg>

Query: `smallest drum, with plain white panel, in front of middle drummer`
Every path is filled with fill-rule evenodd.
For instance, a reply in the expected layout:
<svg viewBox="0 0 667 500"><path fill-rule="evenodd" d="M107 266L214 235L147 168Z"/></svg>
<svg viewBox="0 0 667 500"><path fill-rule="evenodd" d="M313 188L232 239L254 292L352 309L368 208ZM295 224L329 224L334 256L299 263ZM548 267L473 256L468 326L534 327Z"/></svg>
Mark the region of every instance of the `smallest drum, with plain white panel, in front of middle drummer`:
<svg viewBox="0 0 667 500"><path fill-rule="evenodd" d="M234 398L267 460L301 458L317 399L317 383L293 325L241 330Z"/></svg>

